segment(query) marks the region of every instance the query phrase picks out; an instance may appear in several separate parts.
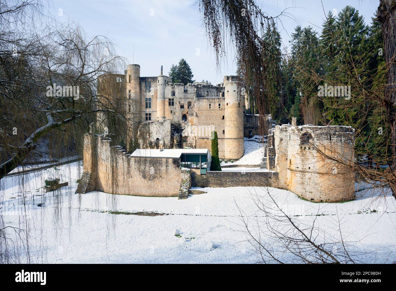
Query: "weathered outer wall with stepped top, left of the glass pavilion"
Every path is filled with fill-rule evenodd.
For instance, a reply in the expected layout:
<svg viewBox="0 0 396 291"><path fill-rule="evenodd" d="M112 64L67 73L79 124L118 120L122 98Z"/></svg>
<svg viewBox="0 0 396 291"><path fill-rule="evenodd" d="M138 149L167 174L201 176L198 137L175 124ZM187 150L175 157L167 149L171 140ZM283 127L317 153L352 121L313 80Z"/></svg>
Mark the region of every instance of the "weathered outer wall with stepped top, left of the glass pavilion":
<svg viewBox="0 0 396 291"><path fill-rule="evenodd" d="M113 194L137 196L178 196L185 174L180 159L129 157L118 147L110 146L103 136L84 136L84 173L91 186ZM79 185L79 188L80 187Z"/></svg>

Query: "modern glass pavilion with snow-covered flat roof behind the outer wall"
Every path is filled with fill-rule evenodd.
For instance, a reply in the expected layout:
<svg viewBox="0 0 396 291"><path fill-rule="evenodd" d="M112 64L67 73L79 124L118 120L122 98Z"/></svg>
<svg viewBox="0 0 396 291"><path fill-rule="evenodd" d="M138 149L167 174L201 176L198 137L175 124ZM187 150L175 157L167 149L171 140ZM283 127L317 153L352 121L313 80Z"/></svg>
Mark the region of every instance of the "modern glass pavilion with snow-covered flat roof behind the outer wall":
<svg viewBox="0 0 396 291"><path fill-rule="evenodd" d="M182 168L200 169L201 175L210 170L212 156L206 148L137 149L131 156L150 158L179 158Z"/></svg>

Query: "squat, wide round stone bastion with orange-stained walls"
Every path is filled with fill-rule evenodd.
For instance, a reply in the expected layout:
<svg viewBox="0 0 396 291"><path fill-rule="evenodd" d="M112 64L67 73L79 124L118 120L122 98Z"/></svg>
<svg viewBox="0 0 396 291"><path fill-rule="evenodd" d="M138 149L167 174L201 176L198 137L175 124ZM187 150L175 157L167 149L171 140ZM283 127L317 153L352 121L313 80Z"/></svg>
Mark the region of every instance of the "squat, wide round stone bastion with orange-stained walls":
<svg viewBox="0 0 396 291"><path fill-rule="evenodd" d="M354 198L351 127L276 126L274 149L281 186L314 202Z"/></svg>

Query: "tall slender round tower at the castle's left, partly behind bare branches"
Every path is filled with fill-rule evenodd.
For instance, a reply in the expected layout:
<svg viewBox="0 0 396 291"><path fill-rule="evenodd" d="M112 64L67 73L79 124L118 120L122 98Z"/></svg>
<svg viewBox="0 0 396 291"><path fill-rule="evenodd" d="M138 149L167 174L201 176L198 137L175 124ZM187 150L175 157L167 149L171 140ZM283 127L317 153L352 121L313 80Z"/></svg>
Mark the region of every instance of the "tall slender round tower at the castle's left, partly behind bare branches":
<svg viewBox="0 0 396 291"><path fill-rule="evenodd" d="M128 117L130 118L131 128L128 131L128 141L136 139L137 129L141 122L141 94L140 94L140 66L128 65L126 70L126 92L128 99Z"/></svg>

